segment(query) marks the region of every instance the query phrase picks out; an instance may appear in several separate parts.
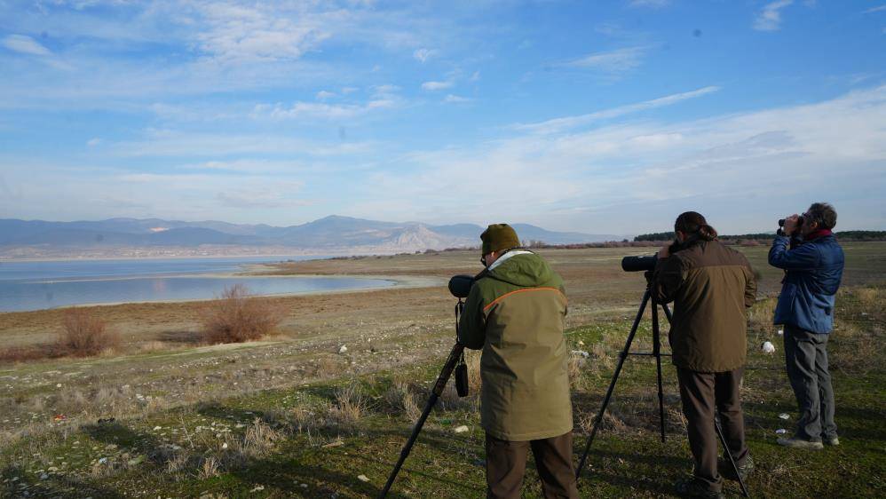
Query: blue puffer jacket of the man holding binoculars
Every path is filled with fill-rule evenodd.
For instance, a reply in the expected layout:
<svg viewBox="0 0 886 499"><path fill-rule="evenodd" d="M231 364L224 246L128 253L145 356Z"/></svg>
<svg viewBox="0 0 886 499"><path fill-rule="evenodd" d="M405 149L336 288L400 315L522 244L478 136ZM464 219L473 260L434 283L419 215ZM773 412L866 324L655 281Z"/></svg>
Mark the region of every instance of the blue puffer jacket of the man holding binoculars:
<svg viewBox="0 0 886 499"><path fill-rule="evenodd" d="M769 265L785 269L775 324L813 333L834 328L834 297L842 279L843 253L833 235L787 249L787 237L776 237L769 250Z"/></svg>

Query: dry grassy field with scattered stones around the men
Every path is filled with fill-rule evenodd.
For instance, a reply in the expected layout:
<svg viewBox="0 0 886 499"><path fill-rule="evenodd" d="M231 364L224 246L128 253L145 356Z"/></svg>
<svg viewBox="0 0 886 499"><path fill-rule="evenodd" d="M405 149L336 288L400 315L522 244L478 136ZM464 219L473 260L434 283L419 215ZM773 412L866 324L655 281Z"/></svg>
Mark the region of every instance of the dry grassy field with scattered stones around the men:
<svg viewBox="0 0 886 499"><path fill-rule="evenodd" d="M741 248L760 273L742 391L756 497L886 495L886 243L844 247L829 347L842 445L816 453L775 444L776 430L790 431L796 417L780 337L769 324L780 272L766 265L766 247ZM541 251L566 280L570 349L587 352L571 365L577 455L645 286L619 261L650 252ZM246 344L202 345L200 303L94 307L123 337L119 351L0 364L0 495L376 496L454 342L455 299L445 283L479 271L478 259L454 251L257 269L437 284L266 298L285 311L279 334ZM0 347L48 345L61 317L0 313ZM649 332L645 321L635 351L650 349ZM777 352L760 351L766 340ZM448 387L391 497L485 495L473 352L469 364L471 396L459 399ZM651 360L628 360L579 484L583 497L673 496L673 482L691 470L674 368L664 364L664 443L654 373ZM467 431L456 432L461 426ZM727 482L726 492L739 495L737 484ZM541 496L531 464L525 496Z"/></svg>

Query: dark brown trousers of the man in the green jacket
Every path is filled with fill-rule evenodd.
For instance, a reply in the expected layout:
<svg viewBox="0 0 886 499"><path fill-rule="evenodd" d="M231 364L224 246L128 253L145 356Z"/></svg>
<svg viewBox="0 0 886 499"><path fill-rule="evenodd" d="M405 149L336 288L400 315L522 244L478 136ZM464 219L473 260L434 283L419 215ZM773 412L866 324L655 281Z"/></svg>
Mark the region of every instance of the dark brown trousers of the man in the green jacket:
<svg viewBox="0 0 886 499"><path fill-rule="evenodd" d="M526 455L532 448L546 498L578 498L573 467L573 433L550 439L513 442L487 433L487 499L520 497Z"/></svg>

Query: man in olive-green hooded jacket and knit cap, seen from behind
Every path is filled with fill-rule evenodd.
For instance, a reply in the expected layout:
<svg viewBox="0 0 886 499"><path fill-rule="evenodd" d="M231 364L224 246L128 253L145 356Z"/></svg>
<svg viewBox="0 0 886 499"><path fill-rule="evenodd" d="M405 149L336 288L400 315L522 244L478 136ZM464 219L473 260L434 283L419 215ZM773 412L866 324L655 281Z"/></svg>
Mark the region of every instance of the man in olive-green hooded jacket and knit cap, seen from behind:
<svg viewBox="0 0 886 499"><path fill-rule="evenodd" d="M507 224L480 235L486 270L471 288L458 329L480 359L487 497L518 498L532 448L545 497L578 497L572 402L563 337L566 291L550 265Z"/></svg>

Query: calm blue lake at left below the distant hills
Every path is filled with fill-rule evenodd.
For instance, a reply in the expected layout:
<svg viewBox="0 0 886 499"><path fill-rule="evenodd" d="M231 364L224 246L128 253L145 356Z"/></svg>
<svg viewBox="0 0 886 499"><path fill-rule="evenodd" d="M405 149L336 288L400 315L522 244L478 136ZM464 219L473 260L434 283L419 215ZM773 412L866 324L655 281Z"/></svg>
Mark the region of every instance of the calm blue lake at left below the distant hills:
<svg viewBox="0 0 886 499"><path fill-rule="evenodd" d="M247 265L311 258L315 257L0 262L0 312L210 299L234 284L242 284L256 295L384 288L394 284L352 277L233 275L247 270Z"/></svg>

